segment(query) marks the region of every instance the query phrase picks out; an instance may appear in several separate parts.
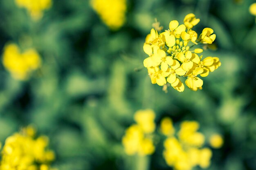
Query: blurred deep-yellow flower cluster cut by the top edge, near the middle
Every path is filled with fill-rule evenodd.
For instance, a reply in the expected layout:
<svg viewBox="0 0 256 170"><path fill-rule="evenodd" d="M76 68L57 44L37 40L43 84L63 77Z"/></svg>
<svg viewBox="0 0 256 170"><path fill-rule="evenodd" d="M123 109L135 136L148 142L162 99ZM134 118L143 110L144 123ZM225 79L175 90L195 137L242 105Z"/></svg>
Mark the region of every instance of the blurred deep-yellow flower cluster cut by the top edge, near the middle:
<svg viewBox="0 0 256 170"><path fill-rule="evenodd" d="M92 8L112 30L119 29L126 20L126 0L91 0Z"/></svg>

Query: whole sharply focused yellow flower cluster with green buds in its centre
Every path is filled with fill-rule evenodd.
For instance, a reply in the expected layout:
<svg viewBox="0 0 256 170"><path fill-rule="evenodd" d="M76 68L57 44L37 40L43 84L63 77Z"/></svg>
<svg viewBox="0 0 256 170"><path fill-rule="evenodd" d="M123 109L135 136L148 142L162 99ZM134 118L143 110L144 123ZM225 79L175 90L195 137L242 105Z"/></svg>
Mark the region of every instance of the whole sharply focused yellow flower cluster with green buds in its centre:
<svg viewBox="0 0 256 170"><path fill-rule="evenodd" d="M179 92L184 91L184 84L177 76L186 77L185 84L193 91L202 89L203 81L198 77L206 77L220 65L218 57L202 58L203 49L192 47L199 44L212 44L216 38L213 29L205 28L198 36L192 30L200 20L193 13L185 16L184 24L177 20L169 23L169 29L158 33L159 26L151 29L143 46L148 57L144 66L152 84L166 86L167 82ZM193 49L193 50L191 50Z"/></svg>

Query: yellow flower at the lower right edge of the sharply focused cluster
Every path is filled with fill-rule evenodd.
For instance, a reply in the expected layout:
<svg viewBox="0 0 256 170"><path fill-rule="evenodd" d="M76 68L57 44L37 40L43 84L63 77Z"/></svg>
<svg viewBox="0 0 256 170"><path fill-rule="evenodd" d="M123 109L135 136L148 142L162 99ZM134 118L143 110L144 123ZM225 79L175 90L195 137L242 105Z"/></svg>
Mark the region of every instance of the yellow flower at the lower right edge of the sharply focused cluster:
<svg viewBox="0 0 256 170"><path fill-rule="evenodd" d="M202 74L203 72L204 72L204 69L199 67L195 68L192 74L186 79L185 81L186 85L193 90L197 90L197 88L202 87L203 81L202 79L198 78L197 75Z"/></svg>

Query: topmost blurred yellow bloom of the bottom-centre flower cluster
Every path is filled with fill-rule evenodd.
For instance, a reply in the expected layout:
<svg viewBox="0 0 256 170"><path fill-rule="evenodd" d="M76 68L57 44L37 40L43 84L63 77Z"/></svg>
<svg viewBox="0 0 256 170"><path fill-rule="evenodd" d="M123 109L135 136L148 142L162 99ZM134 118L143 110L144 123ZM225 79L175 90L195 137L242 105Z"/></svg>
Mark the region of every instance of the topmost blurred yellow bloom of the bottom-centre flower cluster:
<svg viewBox="0 0 256 170"><path fill-rule="evenodd" d="M152 133L155 130L155 112L151 109L138 110L134 119L144 133Z"/></svg>

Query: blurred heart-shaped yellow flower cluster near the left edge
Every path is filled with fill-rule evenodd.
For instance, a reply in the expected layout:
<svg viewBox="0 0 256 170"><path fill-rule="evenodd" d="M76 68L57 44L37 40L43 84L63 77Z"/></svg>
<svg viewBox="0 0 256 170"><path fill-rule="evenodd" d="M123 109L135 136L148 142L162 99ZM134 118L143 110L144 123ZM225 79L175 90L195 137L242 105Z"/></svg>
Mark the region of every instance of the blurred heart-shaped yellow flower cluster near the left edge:
<svg viewBox="0 0 256 170"><path fill-rule="evenodd" d="M24 53L20 53L16 44L9 44L4 47L3 65L13 78L25 80L31 71L40 67L41 59L35 49L27 49Z"/></svg>

